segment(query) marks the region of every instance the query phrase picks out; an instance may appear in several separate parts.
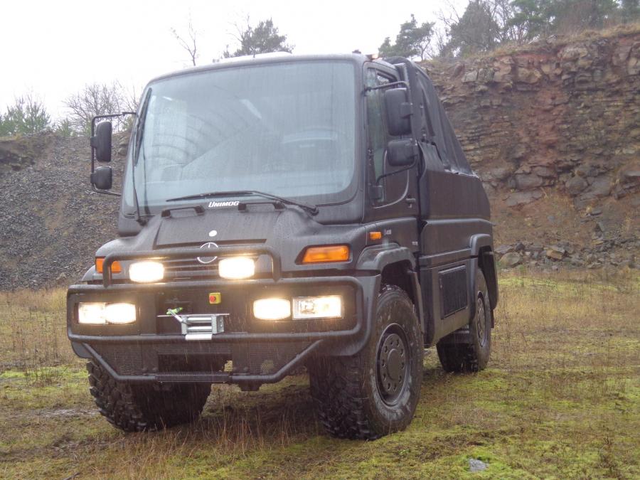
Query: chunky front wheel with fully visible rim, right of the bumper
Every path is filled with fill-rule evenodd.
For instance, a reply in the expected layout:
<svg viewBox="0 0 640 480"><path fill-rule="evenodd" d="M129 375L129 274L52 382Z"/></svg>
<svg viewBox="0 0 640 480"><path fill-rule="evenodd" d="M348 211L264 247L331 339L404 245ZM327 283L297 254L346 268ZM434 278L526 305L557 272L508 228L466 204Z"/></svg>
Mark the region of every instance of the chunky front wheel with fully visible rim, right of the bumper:
<svg viewBox="0 0 640 480"><path fill-rule="evenodd" d="M378 296L373 332L355 356L309 365L316 411L335 437L376 439L410 424L422 384L424 343L414 306L393 285Z"/></svg>

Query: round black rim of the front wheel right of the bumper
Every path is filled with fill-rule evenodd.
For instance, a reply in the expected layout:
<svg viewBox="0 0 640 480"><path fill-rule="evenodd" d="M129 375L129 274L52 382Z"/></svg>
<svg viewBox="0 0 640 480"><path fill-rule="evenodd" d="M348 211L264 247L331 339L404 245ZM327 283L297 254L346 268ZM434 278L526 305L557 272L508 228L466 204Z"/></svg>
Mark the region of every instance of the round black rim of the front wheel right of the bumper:
<svg viewBox="0 0 640 480"><path fill-rule="evenodd" d="M387 405L398 403L407 389L409 356L405 331L398 324L388 326L380 336L376 362L378 392Z"/></svg>

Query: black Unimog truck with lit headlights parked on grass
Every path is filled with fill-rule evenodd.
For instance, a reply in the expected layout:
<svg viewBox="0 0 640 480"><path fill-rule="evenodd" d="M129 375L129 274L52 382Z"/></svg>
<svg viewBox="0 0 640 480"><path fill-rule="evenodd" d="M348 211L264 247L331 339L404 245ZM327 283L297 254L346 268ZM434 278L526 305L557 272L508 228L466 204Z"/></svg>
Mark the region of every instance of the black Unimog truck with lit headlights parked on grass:
<svg viewBox="0 0 640 480"><path fill-rule="evenodd" d="M111 129L91 139L104 193L112 170L93 159L110 161ZM123 430L193 420L212 383L257 390L306 366L326 430L373 439L410 423L426 347L447 371L489 360L489 203L405 58L259 55L156 78L118 230L67 316Z"/></svg>

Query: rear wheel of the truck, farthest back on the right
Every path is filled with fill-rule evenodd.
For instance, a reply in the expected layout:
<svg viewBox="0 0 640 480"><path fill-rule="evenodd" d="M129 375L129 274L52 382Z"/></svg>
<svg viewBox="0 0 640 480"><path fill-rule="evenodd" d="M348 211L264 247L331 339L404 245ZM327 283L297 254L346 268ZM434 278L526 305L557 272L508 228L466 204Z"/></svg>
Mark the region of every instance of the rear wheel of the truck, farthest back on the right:
<svg viewBox="0 0 640 480"><path fill-rule="evenodd" d="M484 370L491 356L492 311L489 301L489 289L481 270L476 274L474 294L474 317L464 333L469 333L468 343L455 343L451 338L442 338L436 345L438 358L446 372L477 372Z"/></svg>

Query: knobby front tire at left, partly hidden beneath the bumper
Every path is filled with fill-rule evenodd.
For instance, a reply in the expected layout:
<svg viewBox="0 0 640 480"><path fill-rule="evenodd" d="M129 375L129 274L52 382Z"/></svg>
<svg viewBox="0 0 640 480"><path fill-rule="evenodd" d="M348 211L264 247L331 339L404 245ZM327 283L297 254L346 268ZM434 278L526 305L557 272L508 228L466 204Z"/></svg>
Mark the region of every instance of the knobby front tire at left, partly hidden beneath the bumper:
<svg viewBox="0 0 640 480"><path fill-rule="evenodd" d="M211 391L207 383L147 385L115 380L97 362L87 363L90 393L107 420L125 432L161 430L198 418Z"/></svg>

